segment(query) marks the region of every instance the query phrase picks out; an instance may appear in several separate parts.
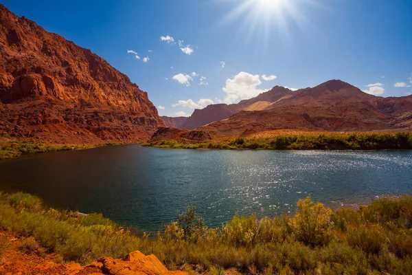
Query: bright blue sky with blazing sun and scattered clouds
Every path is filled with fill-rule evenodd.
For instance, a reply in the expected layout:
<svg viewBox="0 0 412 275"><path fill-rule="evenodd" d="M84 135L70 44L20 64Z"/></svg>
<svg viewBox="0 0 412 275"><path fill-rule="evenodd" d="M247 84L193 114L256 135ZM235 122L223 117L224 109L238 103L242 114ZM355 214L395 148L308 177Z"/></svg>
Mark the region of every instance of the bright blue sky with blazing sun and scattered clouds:
<svg viewBox="0 0 412 275"><path fill-rule="evenodd" d="M378 96L412 93L409 0L1 3L102 56L161 115L330 79Z"/></svg>

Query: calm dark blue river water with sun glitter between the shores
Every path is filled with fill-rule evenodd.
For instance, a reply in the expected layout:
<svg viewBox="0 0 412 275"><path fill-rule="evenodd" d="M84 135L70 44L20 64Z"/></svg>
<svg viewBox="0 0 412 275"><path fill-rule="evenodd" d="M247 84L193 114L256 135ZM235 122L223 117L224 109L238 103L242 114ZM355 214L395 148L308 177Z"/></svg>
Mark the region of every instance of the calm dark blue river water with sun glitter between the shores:
<svg viewBox="0 0 412 275"><path fill-rule="evenodd" d="M208 225L233 214L294 212L306 196L339 207L412 195L411 151L196 151L138 145L43 153L0 162L0 190L102 212L158 230L186 205Z"/></svg>

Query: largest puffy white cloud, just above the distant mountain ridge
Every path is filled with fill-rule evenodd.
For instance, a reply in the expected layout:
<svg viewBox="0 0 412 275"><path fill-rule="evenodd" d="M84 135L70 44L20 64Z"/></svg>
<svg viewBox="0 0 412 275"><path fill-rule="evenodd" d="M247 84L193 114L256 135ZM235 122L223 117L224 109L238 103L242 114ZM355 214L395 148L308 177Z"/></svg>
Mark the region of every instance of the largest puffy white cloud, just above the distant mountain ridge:
<svg viewBox="0 0 412 275"><path fill-rule="evenodd" d="M235 103L243 99L254 98L258 94L263 93L266 90L257 89L262 82L260 81L258 74L249 74L247 72L240 72L234 76L233 79L226 80L226 86L223 87L226 98L225 103Z"/></svg>

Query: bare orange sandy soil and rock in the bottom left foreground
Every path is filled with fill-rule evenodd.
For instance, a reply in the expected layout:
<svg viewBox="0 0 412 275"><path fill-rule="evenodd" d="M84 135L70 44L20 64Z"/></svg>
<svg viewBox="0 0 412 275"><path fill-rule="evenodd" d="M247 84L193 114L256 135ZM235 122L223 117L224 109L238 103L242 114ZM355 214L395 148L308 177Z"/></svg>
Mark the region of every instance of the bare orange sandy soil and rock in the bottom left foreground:
<svg viewBox="0 0 412 275"><path fill-rule="evenodd" d="M78 263L58 263L61 259L58 254L47 254L32 237L18 239L0 230L0 275L189 275L169 271L155 255L146 256L139 251L122 260L102 256L83 267Z"/></svg>

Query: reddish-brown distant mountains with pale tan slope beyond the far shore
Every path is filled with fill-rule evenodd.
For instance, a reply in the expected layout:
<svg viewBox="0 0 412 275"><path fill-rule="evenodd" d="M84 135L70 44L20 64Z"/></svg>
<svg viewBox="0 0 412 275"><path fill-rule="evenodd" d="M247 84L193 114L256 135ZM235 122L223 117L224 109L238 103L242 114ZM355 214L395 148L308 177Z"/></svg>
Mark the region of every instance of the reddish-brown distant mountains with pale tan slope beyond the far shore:
<svg viewBox="0 0 412 275"><path fill-rule="evenodd" d="M209 113L213 115L208 119ZM195 110L183 126L195 118L198 124L223 118L196 128L212 138L247 137L277 129L412 131L412 96L382 98L341 80L330 80L297 91L274 87L238 104L209 105ZM167 136L171 135L163 130L163 137Z"/></svg>

